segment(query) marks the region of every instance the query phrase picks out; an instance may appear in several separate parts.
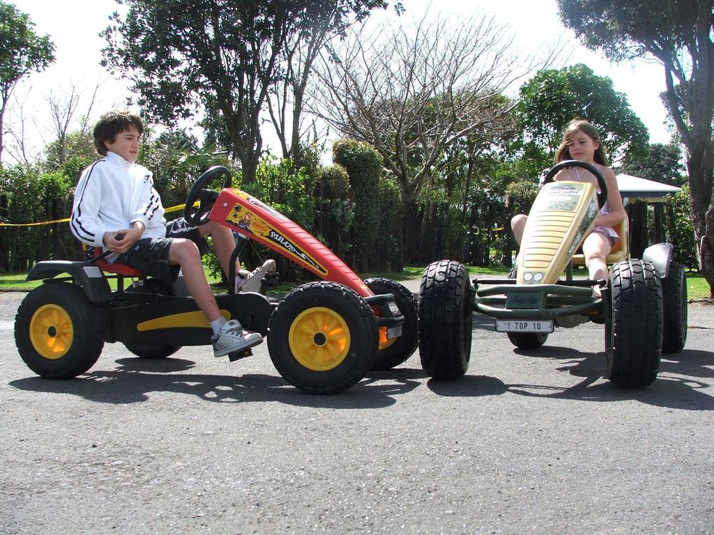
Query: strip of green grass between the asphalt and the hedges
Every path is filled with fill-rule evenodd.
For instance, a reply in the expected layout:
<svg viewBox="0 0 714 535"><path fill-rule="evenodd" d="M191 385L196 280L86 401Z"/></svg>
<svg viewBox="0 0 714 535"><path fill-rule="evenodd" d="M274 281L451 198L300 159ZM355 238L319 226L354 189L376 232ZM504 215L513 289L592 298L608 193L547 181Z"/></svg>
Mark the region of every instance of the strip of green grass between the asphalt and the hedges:
<svg viewBox="0 0 714 535"><path fill-rule="evenodd" d="M405 281L421 278L421 274L424 270L423 266L409 265L404 268L403 272L384 272L384 273L361 273L360 277L363 279L369 277L383 277L391 280ZM473 277L474 275L498 275L505 277L508 275L508 270L504 268L490 268L490 267L475 267L468 266L468 272ZM25 280L26 273L0 273L0 291L2 290L31 290L34 287L39 286L41 280L32 280L30 282ZM220 281L216 280L215 277L206 272L206 277L208 277L208 282L214 288L216 292L223 292L220 287ZM288 292L298 283L286 283L276 288L276 292ZM116 281L110 280L109 285L112 288L116 288ZM709 297L709 285L704 280L702 275L695 272L687 272L687 292L690 300L693 299L704 299Z"/></svg>

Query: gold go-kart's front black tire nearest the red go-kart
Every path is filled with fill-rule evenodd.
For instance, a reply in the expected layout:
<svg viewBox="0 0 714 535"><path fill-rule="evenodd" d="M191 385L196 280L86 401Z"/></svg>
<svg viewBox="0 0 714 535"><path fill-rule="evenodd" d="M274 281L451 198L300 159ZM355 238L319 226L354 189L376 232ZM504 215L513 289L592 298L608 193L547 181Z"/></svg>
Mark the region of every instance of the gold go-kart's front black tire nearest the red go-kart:
<svg viewBox="0 0 714 535"><path fill-rule="evenodd" d="M471 280L455 260L426 267L418 299L421 367L434 379L456 379L471 359Z"/></svg>

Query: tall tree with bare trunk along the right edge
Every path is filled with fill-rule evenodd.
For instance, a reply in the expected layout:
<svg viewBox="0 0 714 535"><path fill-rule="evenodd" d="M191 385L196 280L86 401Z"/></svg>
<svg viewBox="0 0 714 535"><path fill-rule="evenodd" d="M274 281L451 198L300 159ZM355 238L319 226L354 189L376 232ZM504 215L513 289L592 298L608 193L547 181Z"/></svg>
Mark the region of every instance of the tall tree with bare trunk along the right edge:
<svg viewBox="0 0 714 535"><path fill-rule="evenodd" d="M665 102L687 150L690 208L702 275L714 297L714 0L558 0L590 49L619 61L656 58Z"/></svg>

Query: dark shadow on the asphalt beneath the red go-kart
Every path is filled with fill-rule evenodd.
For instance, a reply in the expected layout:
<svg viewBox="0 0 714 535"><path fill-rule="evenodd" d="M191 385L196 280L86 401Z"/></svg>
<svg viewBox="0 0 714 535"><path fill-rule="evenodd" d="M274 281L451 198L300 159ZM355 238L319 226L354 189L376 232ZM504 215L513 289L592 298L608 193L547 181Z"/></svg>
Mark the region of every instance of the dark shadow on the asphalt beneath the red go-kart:
<svg viewBox="0 0 714 535"><path fill-rule="evenodd" d="M218 403L277 401L303 407L374 409L396 403L394 396L416 388L421 383L415 379L422 375L421 370L408 369L380 372L346 392L321 396L302 392L278 375L186 374L195 365L191 360L121 358L116 363L120 365L118 370L96 370L76 379L54 381L26 377L9 384L22 390L74 394L90 401L113 404L144 402L151 392L175 392ZM174 375L172 372L183 373Z"/></svg>

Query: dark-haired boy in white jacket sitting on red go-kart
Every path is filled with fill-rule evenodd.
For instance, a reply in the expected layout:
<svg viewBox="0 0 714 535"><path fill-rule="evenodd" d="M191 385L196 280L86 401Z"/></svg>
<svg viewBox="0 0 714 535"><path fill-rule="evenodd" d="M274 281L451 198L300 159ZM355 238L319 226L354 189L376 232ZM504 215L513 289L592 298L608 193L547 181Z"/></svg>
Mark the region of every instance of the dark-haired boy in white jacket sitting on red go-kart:
<svg viewBox="0 0 714 535"><path fill-rule="evenodd" d="M107 258L110 262L129 265L150 277L171 282L180 268L188 291L211 324L216 357L260 344L260 334L221 315L203 272L201 255L207 251L203 236L211 234L227 273L234 247L231 230L213 222L193 227L183 218L166 223L151 171L136 163L142 133L141 118L128 111L110 111L96 123L94 144L102 158L81 173L72 207L72 233L87 245L116 253ZM238 289L257 290L274 267L275 261L268 260L248 276L237 275Z"/></svg>

